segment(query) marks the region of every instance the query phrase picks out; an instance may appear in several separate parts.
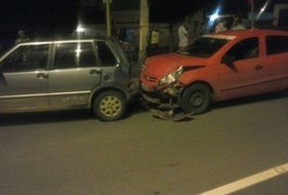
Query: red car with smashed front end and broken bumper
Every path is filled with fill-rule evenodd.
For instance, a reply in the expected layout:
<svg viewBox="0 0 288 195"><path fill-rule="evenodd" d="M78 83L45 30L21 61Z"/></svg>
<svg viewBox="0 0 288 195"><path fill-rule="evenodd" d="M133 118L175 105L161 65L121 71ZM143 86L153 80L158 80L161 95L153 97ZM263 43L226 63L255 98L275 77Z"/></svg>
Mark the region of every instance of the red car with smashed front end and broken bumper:
<svg viewBox="0 0 288 195"><path fill-rule="evenodd" d="M211 102L288 88L288 32L231 30L198 37L176 53L146 60L142 98L200 114Z"/></svg>

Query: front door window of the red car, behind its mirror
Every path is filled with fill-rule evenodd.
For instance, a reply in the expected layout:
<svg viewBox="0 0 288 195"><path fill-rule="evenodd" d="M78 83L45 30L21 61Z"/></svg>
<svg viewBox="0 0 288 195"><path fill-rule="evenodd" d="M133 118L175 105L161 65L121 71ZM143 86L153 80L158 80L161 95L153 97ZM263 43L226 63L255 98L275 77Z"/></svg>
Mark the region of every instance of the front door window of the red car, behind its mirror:
<svg viewBox="0 0 288 195"><path fill-rule="evenodd" d="M256 37L248 38L236 43L224 57L241 61L259 56L259 40Z"/></svg>

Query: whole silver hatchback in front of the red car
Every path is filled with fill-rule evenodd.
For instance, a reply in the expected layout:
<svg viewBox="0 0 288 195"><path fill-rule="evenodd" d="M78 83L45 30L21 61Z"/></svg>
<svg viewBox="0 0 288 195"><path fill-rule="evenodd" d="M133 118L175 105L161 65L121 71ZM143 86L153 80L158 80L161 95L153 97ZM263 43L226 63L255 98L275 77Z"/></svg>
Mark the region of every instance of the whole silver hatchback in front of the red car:
<svg viewBox="0 0 288 195"><path fill-rule="evenodd" d="M123 117L135 93L114 39L29 41L0 57L0 113L87 108Z"/></svg>

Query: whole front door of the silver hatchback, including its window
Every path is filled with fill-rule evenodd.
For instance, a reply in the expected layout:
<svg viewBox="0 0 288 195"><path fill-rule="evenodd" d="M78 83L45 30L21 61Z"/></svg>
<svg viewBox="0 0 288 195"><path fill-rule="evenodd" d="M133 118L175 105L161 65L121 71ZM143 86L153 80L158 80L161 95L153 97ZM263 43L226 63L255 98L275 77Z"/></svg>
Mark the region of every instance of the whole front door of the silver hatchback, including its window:
<svg viewBox="0 0 288 195"><path fill-rule="evenodd" d="M47 109L49 44L20 46L0 62L0 112Z"/></svg>

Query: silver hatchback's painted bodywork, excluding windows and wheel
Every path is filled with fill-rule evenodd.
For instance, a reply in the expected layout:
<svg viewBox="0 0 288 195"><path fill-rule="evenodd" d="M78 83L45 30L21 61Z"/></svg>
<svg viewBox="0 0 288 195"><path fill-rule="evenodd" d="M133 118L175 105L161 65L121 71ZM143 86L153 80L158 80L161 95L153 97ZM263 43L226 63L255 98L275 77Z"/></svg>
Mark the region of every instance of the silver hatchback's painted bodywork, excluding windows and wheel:
<svg viewBox="0 0 288 195"><path fill-rule="evenodd" d="M117 89L129 99L129 64L120 44L104 40L117 64L57 69L53 67L54 48L62 43L87 42L96 39L61 40L20 43L0 57L1 62L20 47L49 44L46 69L2 73L0 70L0 113L90 108L93 95L103 89ZM103 41L103 40L99 40ZM96 49L95 49L96 50Z"/></svg>

